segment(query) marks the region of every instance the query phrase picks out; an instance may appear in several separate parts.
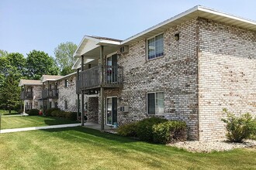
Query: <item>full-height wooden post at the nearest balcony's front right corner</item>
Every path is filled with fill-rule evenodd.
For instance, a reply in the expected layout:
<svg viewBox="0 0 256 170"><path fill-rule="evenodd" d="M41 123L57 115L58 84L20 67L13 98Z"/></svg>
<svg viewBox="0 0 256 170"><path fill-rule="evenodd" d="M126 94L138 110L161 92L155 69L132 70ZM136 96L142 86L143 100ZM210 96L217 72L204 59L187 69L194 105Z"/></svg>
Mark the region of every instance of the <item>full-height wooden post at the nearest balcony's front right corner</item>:
<svg viewBox="0 0 256 170"><path fill-rule="evenodd" d="M99 56L100 56L100 60L101 60L101 66L102 66L102 70L101 70L101 86L100 86L100 107L101 107L101 130L104 130L104 88L103 88L103 82L104 82L104 56L103 56L103 46L99 47Z"/></svg>

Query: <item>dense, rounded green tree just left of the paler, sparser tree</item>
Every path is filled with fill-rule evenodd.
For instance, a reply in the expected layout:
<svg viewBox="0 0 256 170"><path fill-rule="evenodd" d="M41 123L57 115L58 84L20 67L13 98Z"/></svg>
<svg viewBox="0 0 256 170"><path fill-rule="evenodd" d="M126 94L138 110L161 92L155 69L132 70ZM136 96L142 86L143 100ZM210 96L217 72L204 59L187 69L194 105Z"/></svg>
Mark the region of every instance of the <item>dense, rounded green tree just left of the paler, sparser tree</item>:
<svg viewBox="0 0 256 170"><path fill-rule="evenodd" d="M57 75L59 68L53 57L43 51L33 50L27 54L26 76L31 80L39 80L43 74Z"/></svg>

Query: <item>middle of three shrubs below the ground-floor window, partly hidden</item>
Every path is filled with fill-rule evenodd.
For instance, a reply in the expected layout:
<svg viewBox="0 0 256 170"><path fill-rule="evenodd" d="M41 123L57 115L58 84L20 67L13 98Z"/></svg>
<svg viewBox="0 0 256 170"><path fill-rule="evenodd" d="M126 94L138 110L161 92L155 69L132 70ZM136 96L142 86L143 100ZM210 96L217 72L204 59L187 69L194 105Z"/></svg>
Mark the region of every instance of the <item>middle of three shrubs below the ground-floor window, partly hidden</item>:
<svg viewBox="0 0 256 170"><path fill-rule="evenodd" d="M139 121L137 124L137 136L141 141L153 142L153 126L167 121L158 117L150 117Z"/></svg>

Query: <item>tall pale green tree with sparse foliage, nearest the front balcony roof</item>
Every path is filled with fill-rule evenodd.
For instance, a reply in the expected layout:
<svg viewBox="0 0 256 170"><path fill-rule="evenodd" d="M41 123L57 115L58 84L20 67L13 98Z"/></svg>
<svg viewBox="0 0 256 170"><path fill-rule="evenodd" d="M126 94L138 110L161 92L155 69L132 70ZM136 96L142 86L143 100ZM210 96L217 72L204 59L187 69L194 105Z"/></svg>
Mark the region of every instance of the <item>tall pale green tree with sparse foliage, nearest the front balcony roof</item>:
<svg viewBox="0 0 256 170"><path fill-rule="evenodd" d="M73 54L78 48L73 42L61 43L54 49L54 55L57 62L57 65L61 69L61 75L67 75L72 73L72 66L75 62Z"/></svg>

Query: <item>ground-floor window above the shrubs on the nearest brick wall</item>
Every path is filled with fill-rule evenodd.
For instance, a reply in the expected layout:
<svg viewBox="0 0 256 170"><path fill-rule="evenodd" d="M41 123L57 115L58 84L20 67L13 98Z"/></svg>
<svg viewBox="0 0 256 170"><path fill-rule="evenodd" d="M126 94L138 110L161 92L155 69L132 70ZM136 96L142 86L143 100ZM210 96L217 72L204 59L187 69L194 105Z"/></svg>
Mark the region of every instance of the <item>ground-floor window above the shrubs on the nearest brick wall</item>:
<svg viewBox="0 0 256 170"><path fill-rule="evenodd" d="M164 114L164 92L147 93L147 114Z"/></svg>

